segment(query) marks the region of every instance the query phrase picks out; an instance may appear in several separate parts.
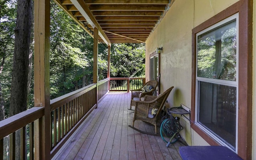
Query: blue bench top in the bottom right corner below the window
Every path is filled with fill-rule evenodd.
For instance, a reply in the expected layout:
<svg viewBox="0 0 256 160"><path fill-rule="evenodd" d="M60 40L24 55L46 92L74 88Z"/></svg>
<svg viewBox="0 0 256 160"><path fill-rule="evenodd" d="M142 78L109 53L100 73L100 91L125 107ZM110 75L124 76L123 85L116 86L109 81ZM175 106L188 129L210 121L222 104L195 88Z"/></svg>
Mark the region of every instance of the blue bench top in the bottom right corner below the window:
<svg viewBox="0 0 256 160"><path fill-rule="evenodd" d="M184 146L179 152L182 160L242 160L224 146Z"/></svg>

